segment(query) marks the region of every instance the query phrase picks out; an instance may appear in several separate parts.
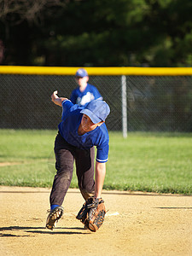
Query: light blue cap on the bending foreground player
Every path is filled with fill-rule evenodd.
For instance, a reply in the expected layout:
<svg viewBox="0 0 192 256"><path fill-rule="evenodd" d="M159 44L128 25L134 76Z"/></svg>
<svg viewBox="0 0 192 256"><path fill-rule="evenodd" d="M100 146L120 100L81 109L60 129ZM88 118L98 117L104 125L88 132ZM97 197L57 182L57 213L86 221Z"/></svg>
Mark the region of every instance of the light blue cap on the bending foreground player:
<svg viewBox="0 0 192 256"><path fill-rule="evenodd" d="M108 103L102 100L94 100L89 102L80 113L85 113L94 124L97 124L107 119L110 108L108 107Z"/></svg>

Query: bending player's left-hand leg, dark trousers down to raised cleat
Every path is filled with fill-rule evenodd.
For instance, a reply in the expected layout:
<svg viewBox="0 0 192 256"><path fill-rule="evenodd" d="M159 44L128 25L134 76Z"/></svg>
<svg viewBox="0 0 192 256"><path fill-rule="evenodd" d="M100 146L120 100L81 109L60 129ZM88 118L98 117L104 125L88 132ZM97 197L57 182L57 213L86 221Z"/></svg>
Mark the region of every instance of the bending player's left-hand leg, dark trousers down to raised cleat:
<svg viewBox="0 0 192 256"><path fill-rule="evenodd" d="M50 211L46 222L46 227L49 230L53 230L56 222L63 214L61 205L73 177L73 153L70 145L65 142L60 134L55 138L55 160L57 172L49 196Z"/></svg>

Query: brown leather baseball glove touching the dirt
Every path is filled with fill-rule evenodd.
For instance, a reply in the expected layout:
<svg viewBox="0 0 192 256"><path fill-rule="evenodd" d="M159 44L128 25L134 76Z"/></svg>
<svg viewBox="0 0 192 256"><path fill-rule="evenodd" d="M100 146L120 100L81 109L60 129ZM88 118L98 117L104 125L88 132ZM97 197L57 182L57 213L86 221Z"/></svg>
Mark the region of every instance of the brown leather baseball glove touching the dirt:
<svg viewBox="0 0 192 256"><path fill-rule="evenodd" d="M106 209L102 198L91 196L84 202L76 218L84 224L85 228L96 232L104 221L105 213Z"/></svg>

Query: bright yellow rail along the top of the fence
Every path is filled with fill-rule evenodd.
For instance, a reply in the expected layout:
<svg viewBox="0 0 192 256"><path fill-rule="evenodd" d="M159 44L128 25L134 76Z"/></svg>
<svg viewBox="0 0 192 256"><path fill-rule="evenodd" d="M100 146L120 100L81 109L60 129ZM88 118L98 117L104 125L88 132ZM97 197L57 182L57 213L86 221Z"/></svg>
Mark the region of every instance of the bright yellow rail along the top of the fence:
<svg viewBox="0 0 192 256"><path fill-rule="evenodd" d="M0 66L0 74L74 75L79 67ZM191 76L192 67L84 67L89 75Z"/></svg>

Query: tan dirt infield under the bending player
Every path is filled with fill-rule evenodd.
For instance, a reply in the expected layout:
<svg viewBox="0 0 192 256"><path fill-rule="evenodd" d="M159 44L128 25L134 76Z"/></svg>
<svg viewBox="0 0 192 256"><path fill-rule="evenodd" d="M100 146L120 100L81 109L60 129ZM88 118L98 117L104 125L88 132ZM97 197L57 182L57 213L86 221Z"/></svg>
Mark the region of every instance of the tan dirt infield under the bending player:
<svg viewBox="0 0 192 256"><path fill-rule="evenodd" d="M102 228L76 218L83 199L69 189L55 230L45 229L50 189L0 187L1 255L192 255L192 196L103 191Z"/></svg>

